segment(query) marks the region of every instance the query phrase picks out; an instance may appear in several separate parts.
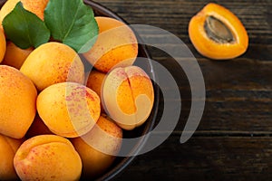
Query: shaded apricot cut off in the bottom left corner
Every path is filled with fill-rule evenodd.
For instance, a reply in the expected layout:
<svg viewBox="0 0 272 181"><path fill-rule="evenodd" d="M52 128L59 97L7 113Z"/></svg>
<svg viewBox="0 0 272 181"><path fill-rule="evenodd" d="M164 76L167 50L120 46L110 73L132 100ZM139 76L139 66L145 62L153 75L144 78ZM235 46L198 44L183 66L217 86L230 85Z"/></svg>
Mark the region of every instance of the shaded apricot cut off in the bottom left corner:
<svg viewBox="0 0 272 181"><path fill-rule="evenodd" d="M15 152L23 143L23 139L15 139L0 134L0 178L1 180L17 180L15 172Z"/></svg>

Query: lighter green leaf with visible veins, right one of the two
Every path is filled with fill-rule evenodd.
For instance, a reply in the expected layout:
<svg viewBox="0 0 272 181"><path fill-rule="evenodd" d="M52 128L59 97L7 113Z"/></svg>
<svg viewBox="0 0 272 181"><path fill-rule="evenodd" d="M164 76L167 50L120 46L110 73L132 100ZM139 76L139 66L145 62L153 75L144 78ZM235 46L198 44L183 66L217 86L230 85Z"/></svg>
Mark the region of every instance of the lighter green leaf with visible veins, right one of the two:
<svg viewBox="0 0 272 181"><path fill-rule="evenodd" d="M83 0L51 0L44 10L44 22L54 40L72 47L76 52L92 48L98 25L92 8Z"/></svg>

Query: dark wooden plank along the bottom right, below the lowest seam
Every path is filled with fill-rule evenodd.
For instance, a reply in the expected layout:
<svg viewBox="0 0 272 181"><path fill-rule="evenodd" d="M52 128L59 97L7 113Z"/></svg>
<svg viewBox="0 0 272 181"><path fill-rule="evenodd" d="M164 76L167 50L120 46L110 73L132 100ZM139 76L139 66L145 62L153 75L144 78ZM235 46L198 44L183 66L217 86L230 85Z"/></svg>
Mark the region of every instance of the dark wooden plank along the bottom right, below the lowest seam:
<svg viewBox="0 0 272 181"><path fill-rule="evenodd" d="M113 180L270 180L271 138L172 136Z"/></svg>

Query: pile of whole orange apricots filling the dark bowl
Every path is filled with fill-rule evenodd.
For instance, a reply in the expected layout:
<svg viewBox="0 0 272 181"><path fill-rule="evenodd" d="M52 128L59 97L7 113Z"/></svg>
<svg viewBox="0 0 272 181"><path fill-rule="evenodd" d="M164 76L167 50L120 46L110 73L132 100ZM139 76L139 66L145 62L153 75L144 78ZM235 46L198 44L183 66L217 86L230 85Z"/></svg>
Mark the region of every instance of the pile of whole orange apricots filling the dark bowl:
<svg viewBox="0 0 272 181"><path fill-rule="evenodd" d="M18 1L6 1L1 21ZM48 1L21 2L43 19ZM83 54L92 71L68 45L23 50L0 31L1 180L99 176L118 155L122 130L148 119L154 93L151 78L133 65L135 34L115 19L95 19L100 33Z"/></svg>

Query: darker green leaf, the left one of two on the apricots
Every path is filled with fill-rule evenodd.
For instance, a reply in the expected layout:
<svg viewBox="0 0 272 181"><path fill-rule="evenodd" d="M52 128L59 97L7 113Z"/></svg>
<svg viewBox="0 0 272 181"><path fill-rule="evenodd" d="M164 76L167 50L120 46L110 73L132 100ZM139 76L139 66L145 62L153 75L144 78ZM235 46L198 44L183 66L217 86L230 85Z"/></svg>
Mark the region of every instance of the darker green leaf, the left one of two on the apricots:
<svg viewBox="0 0 272 181"><path fill-rule="evenodd" d="M5 16L2 24L6 37L22 49L38 47L50 38L44 22L36 14L26 11L21 2Z"/></svg>

